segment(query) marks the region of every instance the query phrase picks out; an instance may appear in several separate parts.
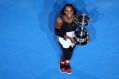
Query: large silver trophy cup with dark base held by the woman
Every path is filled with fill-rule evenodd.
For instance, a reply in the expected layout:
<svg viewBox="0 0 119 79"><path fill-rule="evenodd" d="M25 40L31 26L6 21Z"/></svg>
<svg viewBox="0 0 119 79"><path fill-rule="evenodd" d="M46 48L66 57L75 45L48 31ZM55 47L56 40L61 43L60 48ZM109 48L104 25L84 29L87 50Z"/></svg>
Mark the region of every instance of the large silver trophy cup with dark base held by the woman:
<svg viewBox="0 0 119 79"><path fill-rule="evenodd" d="M89 17L86 13L82 13L81 15L78 15L74 18L74 22L77 25L75 37L76 44L86 45L90 40L89 33L86 30L89 22Z"/></svg>

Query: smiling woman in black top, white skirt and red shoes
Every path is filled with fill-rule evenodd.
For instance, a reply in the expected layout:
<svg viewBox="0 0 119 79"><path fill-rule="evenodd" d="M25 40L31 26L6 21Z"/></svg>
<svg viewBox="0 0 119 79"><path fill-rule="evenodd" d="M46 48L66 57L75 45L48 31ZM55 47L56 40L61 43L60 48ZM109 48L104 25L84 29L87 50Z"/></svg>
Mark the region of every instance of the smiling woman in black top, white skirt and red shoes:
<svg viewBox="0 0 119 79"><path fill-rule="evenodd" d="M76 13L72 4L66 4L61 11L61 16L57 18L55 27L55 33L62 49L60 70L68 74L72 72L70 60L76 46L74 37L77 26L73 21Z"/></svg>

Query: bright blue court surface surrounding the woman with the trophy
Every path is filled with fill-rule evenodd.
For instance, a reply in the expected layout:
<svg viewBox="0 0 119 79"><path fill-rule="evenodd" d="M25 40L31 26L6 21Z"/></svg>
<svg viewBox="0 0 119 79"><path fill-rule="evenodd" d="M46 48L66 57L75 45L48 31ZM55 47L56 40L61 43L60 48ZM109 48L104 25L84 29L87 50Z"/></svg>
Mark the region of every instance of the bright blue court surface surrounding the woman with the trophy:
<svg viewBox="0 0 119 79"><path fill-rule="evenodd" d="M59 71L54 22L66 3L87 12L91 41ZM119 0L0 0L0 79L119 79Z"/></svg>

